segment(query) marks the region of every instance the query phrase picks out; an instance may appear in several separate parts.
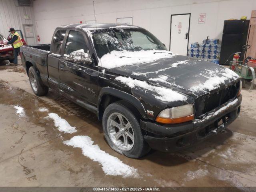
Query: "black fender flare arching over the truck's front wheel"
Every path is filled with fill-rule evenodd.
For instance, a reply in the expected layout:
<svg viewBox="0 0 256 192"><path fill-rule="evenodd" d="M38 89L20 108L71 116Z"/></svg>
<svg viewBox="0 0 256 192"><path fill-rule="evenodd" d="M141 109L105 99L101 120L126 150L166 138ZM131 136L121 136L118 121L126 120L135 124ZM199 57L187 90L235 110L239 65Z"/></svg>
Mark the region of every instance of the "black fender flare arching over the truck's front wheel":
<svg viewBox="0 0 256 192"><path fill-rule="evenodd" d="M126 92L120 91L118 89L115 88L111 88L111 87L104 87L100 90L99 96L98 96L98 110L97 110L97 114L98 114L98 118L99 118L99 108L100 108L100 102L102 102L102 96L104 95L111 95L111 96L115 96L118 97L130 104L132 104L137 110L138 112L141 114L141 116L145 119L147 119L147 115L146 115L146 110L144 108L144 106L142 105L142 103L140 102L140 100L138 100L138 98L134 97L131 94L128 94Z"/></svg>

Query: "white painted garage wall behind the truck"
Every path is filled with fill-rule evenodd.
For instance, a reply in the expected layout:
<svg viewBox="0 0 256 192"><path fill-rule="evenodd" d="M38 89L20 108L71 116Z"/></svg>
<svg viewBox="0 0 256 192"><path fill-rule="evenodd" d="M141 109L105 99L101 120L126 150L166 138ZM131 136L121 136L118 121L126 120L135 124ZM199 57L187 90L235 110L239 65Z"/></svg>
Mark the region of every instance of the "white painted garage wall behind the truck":
<svg viewBox="0 0 256 192"><path fill-rule="evenodd" d="M170 41L171 14L191 13L190 42L222 38L224 20L250 19L255 0L94 0L97 22L116 22L132 17L133 24L146 28L166 47ZM198 24L198 14L206 13L205 24ZM40 43L49 43L56 26L94 20L92 0L34 0L34 14Z"/></svg>

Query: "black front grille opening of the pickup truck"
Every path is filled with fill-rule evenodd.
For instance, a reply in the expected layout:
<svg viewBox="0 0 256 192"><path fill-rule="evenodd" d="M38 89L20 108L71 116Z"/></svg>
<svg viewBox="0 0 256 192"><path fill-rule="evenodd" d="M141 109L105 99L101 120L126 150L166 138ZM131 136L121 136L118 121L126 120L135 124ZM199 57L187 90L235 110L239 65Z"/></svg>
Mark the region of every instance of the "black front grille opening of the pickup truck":
<svg viewBox="0 0 256 192"><path fill-rule="evenodd" d="M238 94L240 86L240 81L226 86L220 90L215 90L208 94L198 97L195 100L195 115L196 118L210 112L211 110L221 106L222 104L228 102L228 100L235 98Z"/></svg>

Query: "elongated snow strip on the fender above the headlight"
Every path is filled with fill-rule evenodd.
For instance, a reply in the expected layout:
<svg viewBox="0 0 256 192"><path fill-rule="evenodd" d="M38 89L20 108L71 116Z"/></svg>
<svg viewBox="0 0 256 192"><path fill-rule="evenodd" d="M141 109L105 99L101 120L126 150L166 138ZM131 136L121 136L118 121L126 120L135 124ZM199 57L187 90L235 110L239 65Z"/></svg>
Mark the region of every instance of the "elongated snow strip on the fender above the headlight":
<svg viewBox="0 0 256 192"><path fill-rule="evenodd" d="M123 84L126 84L130 88L142 88L144 90L152 91L154 93L155 98L162 101L173 102L187 100L186 96L169 88L153 86L145 81L132 79L130 77L118 76L115 79Z"/></svg>

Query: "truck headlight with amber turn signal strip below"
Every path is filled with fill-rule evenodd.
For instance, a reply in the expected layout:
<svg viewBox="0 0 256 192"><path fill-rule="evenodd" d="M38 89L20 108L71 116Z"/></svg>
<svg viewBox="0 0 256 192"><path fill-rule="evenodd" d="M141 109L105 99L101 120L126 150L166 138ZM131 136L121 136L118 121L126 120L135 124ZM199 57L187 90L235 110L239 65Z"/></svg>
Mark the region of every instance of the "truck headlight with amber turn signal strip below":
<svg viewBox="0 0 256 192"><path fill-rule="evenodd" d="M164 124L174 124L194 119L193 104L186 104L178 107L163 110L156 117L156 122Z"/></svg>

